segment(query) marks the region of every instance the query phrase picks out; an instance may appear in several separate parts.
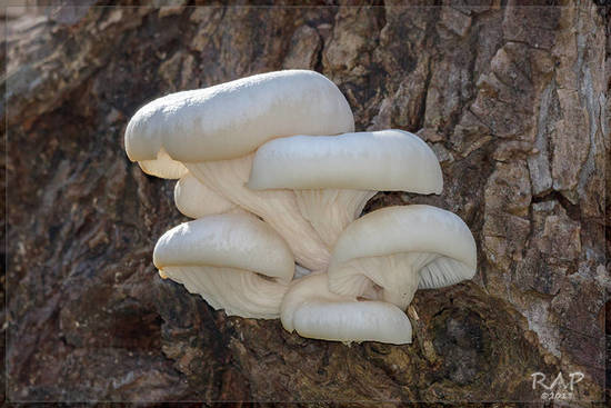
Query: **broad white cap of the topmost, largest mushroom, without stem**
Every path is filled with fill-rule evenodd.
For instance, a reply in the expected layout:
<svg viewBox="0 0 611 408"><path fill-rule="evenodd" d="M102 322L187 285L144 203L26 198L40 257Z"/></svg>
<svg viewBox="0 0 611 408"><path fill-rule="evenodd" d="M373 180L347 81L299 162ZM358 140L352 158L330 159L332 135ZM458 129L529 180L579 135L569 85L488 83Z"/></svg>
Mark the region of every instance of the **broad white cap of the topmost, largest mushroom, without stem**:
<svg viewBox="0 0 611 408"><path fill-rule="evenodd" d="M241 157L277 137L353 129L352 111L333 82L287 70L157 99L128 123L126 150L132 161L153 160L164 147L174 160L200 162Z"/></svg>

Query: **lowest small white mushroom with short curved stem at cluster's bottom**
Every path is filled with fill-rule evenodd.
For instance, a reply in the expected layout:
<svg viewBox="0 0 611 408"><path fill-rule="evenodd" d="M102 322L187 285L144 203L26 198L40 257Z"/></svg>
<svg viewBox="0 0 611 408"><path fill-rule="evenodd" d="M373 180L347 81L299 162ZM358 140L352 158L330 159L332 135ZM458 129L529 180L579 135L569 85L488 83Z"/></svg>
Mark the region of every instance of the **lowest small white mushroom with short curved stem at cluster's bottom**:
<svg viewBox="0 0 611 408"><path fill-rule="evenodd" d="M398 307L331 293L327 278L327 273L311 273L291 283L280 307L286 330L343 342L411 342L410 320Z"/></svg>

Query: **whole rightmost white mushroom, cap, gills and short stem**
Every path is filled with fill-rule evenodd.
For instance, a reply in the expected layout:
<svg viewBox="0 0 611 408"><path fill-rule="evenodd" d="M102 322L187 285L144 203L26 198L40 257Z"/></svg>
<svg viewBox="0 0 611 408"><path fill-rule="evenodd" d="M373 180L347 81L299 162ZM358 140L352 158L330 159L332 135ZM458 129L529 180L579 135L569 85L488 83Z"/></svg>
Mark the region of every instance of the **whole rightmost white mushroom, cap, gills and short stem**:
<svg viewBox="0 0 611 408"><path fill-rule="evenodd" d="M378 291L405 309L417 289L471 279L477 248L469 227L450 211L414 205L388 207L355 220L338 239L329 289L344 296Z"/></svg>

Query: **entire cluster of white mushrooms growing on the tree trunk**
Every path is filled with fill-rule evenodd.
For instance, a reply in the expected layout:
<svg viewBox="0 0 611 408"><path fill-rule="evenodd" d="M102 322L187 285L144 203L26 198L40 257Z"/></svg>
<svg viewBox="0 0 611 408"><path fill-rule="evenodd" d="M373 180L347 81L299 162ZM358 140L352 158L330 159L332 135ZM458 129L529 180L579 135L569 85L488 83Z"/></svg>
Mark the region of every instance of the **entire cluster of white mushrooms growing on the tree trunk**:
<svg viewBox="0 0 611 408"><path fill-rule="evenodd" d="M377 191L440 193L441 168L412 133L354 132L348 101L320 73L157 99L129 121L126 150L146 173L178 179L176 206L194 219L157 242L160 276L227 315L280 318L309 338L408 344L415 290L475 273L474 239L452 212L360 217Z"/></svg>

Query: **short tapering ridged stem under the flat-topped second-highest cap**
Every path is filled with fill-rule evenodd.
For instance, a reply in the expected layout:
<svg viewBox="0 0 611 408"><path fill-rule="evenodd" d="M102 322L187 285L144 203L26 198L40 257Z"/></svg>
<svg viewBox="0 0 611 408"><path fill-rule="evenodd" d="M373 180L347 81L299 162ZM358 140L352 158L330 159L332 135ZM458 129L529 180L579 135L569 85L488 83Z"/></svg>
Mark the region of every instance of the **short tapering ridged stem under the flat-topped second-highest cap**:
<svg viewBox="0 0 611 408"><path fill-rule="evenodd" d="M328 248L333 248L341 232L357 219L372 190L296 190L297 203Z"/></svg>

